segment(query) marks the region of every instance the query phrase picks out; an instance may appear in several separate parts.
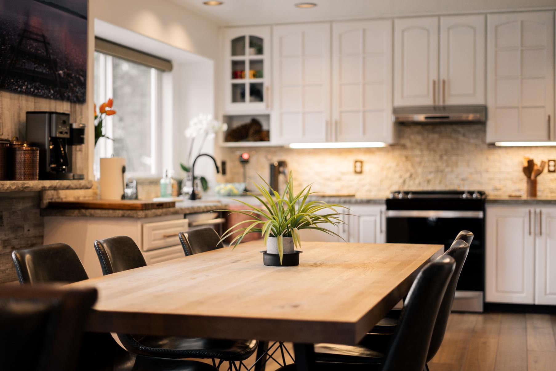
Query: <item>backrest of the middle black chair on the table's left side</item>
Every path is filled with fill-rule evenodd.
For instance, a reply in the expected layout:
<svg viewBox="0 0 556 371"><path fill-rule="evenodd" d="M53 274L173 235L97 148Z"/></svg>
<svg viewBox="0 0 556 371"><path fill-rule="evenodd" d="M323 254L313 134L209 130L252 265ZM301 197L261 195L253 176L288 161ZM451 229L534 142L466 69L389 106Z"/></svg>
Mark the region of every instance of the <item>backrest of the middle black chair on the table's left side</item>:
<svg viewBox="0 0 556 371"><path fill-rule="evenodd" d="M128 236L95 240L95 251L103 275L147 265L139 246Z"/></svg>

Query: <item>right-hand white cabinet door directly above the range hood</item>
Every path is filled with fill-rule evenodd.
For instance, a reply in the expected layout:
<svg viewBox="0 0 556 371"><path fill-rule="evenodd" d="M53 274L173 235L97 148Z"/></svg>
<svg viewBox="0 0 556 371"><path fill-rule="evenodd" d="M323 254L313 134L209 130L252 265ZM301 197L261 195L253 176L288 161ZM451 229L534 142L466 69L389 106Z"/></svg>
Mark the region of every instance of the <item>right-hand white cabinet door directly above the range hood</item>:
<svg viewBox="0 0 556 371"><path fill-rule="evenodd" d="M485 16L440 17L441 105L484 105Z"/></svg>

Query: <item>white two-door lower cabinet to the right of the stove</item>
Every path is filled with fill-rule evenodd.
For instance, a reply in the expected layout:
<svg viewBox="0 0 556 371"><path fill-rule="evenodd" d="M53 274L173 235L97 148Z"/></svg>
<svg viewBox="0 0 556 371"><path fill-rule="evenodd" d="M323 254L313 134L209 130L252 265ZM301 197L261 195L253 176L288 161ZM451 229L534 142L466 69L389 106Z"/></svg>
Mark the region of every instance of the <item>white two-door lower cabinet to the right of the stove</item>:
<svg viewBox="0 0 556 371"><path fill-rule="evenodd" d="M556 206L487 206L485 301L556 305Z"/></svg>

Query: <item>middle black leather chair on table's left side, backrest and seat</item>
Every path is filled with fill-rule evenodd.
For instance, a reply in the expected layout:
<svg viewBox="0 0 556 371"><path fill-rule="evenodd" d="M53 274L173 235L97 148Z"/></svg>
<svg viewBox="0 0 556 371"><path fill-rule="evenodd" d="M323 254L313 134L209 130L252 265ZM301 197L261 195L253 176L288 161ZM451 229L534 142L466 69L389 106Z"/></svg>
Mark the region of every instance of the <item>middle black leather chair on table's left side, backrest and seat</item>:
<svg viewBox="0 0 556 371"><path fill-rule="evenodd" d="M95 240L95 251L104 275L140 268L147 263L141 250L128 236ZM205 338L158 337L118 334L123 346L132 353L161 358L207 358L216 367L223 362L229 369L246 367L243 361L257 348L256 340L224 340ZM215 359L219 359L217 364ZM239 365L236 365L236 362Z"/></svg>

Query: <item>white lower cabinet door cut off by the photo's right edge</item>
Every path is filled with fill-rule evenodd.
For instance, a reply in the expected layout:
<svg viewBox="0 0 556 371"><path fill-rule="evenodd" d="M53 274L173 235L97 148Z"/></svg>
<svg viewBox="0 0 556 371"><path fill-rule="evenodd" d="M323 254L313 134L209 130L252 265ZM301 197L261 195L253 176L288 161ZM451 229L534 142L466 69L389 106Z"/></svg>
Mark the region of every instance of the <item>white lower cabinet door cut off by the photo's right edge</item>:
<svg viewBox="0 0 556 371"><path fill-rule="evenodd" d="M556 304L556 208L538 212L535 304Z"/></svg>

